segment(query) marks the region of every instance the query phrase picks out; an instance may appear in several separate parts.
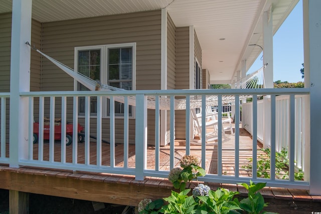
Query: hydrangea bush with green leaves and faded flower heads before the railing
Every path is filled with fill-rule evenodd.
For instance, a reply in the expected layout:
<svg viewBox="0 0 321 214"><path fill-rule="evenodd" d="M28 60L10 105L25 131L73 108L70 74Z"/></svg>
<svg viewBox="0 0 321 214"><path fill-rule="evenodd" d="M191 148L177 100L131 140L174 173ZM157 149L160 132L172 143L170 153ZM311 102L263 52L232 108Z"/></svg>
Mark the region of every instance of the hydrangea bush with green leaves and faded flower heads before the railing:
<svg viewBox="0 0 321 214"><path fill-rule="evenodd" d="M248 190L248 197L241 201L234 196L237 191L230 191L225 188L211 190L208 185L199 183L198 176L204 176L205 170L199 165L196 156L185 155L180 165L183 168L173 168L169 173L169 180L180 192L172 191L169 197L151 201L144 199L139 202L138 211L140 214L156 213L250 213L250 214L272 214L273 212L261 212L267 206L263 196L258 192L266 183L250 184L239 183ZM186 182L197 180L198 185L193 189L186 189ZM166 204L165 204L166 201Z"/></svg>

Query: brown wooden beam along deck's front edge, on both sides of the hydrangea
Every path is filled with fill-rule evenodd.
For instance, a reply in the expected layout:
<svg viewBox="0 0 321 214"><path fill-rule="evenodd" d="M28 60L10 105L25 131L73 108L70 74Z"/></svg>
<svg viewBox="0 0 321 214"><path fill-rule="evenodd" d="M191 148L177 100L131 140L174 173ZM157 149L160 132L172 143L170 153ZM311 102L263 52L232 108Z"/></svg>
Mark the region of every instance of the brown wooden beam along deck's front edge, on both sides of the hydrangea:
<svg viewBox="0 0 321 214"><path fill-rule="evenodd" d="M239 191L246 196L245 188L238 184L207 183L211 189L218 187ZM197 185L196 181L190 188ZM66 170L38 168L10 168L0 165L0 188L14 192L31 192L82 200L100 201L137 206L144 198L158 199L168 197L173 189L172 183L163 178L145 178L137 181L133 176L106 173L73 173ZM267 211L279 213L305 213L320 210L321 196L309 195L301 189L265 187L260 190L270 205ZM17 203L19 201L16 200ZM307 212L306 212L307 213Z"/></svg>

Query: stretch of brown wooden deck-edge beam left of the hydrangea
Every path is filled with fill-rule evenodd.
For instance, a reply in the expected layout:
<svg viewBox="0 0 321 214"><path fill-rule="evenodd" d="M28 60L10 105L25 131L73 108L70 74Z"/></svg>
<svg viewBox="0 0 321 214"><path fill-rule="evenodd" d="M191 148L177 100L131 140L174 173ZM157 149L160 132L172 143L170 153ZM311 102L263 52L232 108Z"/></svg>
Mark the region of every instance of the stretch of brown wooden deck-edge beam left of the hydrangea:
<svg viewBox="0 0 321 214"><path fill-rule="evenodd" d="M161 184L163 179L150 179L144 185L133 176L0 166L2 189L132 206L144 198L171 194L170 183L168 188L159 188L151 181Z"/></svg>

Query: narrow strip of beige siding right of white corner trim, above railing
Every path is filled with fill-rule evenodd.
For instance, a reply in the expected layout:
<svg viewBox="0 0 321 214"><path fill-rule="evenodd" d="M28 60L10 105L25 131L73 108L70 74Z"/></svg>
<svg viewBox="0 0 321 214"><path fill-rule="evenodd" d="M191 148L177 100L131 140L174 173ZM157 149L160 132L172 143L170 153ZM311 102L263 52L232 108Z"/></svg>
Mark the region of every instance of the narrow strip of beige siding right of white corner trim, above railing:
<svg viewBox="0 0 321 214"><path fill-rule="evenodd" d="M176 75L176 27L168 15L167 22L167 89L175 89Z"/></svg>

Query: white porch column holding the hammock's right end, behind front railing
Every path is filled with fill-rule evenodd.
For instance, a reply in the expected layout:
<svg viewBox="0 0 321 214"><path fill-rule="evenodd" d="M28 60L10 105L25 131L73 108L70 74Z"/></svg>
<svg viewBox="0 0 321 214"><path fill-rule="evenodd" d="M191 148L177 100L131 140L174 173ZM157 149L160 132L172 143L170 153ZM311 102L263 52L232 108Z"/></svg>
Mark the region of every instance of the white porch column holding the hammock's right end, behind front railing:
<svg viewBox="0 0 321 214"><path fill-rule="evenodd" d="M273 24L272 24L272 5L269 11L263 12L263 65L265 88L273 88ZM263 98L263 147L271 146L271 102L270 96Z"/></svg>

